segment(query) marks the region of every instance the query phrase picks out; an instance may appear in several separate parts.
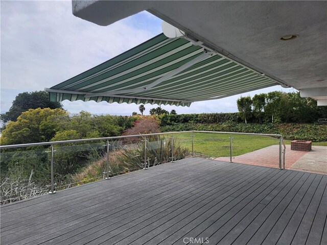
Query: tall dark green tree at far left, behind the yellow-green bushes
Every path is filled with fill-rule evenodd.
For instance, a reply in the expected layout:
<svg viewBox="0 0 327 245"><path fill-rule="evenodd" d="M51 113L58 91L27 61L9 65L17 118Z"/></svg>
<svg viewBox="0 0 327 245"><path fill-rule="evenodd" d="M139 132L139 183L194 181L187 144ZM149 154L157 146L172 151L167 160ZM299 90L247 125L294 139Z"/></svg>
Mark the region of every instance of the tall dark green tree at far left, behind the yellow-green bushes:
<svg viewBox="0 0 327 245"><path fill-rule="evenodd" d="M62 109L62 104L60 102L50 102L49 93L45 91L19 93L9 111L1 114L0 119L3 122L16 121L22 112L36 108Z"/></svg>

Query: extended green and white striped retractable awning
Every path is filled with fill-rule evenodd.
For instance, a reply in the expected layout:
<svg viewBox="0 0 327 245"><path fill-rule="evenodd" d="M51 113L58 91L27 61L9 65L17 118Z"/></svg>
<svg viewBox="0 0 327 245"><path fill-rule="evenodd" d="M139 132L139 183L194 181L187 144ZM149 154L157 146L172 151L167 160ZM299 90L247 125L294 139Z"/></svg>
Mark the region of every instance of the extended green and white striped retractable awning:
<svg viewBox="0 0 327 245"><path fill-rule="evenodd" d="M53 102L190 106L278 84L197 44L160 34L45 90Z"/></svg>

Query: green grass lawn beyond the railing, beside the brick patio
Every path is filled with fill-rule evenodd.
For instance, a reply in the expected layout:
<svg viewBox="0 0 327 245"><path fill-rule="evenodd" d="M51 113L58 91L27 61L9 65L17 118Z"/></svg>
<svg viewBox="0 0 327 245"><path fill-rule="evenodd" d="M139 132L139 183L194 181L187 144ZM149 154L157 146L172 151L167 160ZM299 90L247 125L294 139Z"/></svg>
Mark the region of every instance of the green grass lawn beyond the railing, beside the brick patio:
<svg viewBox="0 0 327 245"><path fill-rule="evenodd" d="M194 133L194 153L208 157L228 157L229 137L230 134ZM182 146L192 151L192 133L174 134L174 138ZM279 144L279 139L268 136L233 134L232 156L239 156L273 144ZM285 140L285 144L291 144L291 140ZM327 146L327 142L313 142L313 145Z"/></svg>

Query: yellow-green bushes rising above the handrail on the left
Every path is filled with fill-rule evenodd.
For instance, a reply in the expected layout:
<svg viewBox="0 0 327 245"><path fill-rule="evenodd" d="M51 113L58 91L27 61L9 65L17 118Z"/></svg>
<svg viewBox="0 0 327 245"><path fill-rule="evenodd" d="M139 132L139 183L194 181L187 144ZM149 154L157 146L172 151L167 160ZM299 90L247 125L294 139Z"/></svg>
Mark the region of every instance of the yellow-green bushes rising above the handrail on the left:
<svg viewBox="0 0 327 245"><path fill-rule="evenodd" d="M62 140L119 136L131 128L135 120L136 118L127 116L91 115L86 111L68 116L62 109L30 109L23 112L17 121L8 122L2 131L1 143L8 145L50 141L58 132L64 132ZM75 131L76 134L68 135L66 131Z"/></svg>

